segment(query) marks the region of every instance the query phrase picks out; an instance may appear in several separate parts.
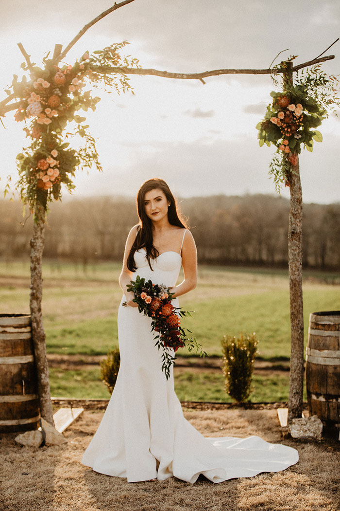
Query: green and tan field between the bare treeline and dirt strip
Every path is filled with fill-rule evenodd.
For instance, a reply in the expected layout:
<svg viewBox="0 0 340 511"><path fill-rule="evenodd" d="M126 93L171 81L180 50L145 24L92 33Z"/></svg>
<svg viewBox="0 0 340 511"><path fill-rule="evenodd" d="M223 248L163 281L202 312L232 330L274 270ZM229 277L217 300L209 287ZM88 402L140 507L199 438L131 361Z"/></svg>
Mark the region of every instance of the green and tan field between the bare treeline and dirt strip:
<svg viewBox="0 0 340 511"><path fill-rule="evenodd" d="M43 266L43 317L47 351L106 354L117 345L116 313L121 299L120 265L81 265L46 261ZM306 272L305 339L310 312L340 309L335 274ZM28 263L0 263L0 313L29 311ZM197 288L181 297L194 310L183 324L209 355L220 356L223 334L256 332L259 356L289 358L289 284L283 270L201 266Z"/></svg>

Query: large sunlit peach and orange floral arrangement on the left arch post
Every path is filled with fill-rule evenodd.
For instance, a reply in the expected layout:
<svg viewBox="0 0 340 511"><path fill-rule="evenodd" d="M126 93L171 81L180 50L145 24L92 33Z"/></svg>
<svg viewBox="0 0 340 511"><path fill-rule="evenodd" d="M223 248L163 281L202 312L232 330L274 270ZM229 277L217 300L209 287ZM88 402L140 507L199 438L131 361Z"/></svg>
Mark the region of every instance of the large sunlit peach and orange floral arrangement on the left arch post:
<svg viewBox="0 0 340 511"><path fill-rule="evenodd" d="M102 170L95 140L85 124L86 118L77 111L88 111L89 108L94 111L100 100L86 90L87 82L101 82L108 92L114 88L118 94L120 89L123 92L132 90L125 75L110 74L109 71L110 66L138 66L137 59L125 58L122 62L118 52L126 44L126 41L112 44L93 55L86 52L80 61L63 67L48 60L48 56L43 59L44 68L22 63L24 71L30 71L30 79L23 76L18 82L15 75L11 87L6 90L8 95L19 98L14 117L17 122L25 121L24 130L32 141L17 155L20 176L17 188L31 211L35 211L37 202L44 211L48 201L60 199L62 183L72 191L72 177L77 168L94 165ZM71 122L75 123L73 131L64 135L66 125ZM70 148L65 140L70 135L84 138L84 147Z"/></svg>

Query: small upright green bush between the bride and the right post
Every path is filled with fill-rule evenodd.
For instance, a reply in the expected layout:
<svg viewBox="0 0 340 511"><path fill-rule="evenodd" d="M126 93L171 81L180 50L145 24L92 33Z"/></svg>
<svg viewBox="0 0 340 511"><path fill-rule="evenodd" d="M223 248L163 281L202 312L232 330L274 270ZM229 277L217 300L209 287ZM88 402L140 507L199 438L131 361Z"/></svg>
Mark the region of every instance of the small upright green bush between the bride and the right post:
<svg viewBox="0 0 340 511"><path fill-rule="evenodd" d="M238 403L250 396L257 342L254 333L245 336L241 333L240 337L224 335L221 341L225 390Z"/></svg>

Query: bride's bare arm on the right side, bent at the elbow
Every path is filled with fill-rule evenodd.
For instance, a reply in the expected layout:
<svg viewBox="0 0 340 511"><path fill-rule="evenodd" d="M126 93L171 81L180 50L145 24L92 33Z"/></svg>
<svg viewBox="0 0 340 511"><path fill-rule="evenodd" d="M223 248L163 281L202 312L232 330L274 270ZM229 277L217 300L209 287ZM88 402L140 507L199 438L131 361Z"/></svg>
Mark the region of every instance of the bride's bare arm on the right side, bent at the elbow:
<svg viewBox="0 0 340 511"><path fill-rule="evenodd" d="M184 281L171 289L174 296L181 296L195 289L197 283L197 250L195 240L190 232L185 234L182 246L182 266Z"/></svg>

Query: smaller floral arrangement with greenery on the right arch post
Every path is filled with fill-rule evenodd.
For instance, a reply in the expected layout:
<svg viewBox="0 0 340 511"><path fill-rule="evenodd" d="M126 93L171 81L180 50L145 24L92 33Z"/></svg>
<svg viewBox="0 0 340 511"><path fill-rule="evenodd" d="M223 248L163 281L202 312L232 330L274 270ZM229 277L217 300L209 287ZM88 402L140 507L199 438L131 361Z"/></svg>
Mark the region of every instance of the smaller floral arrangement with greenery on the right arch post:
<svg viewBox="0 0 340 511"><path fill-rule="evenodd" d="M281 62L276 67L284 65L285 62ZM328 117L329 109L335 111L333 105L339 106L337 82L335 76L328 76L316 65L309 71L302 71L294 86L287 83L284 92L271 92L272 104L267 106L265 118L256 129L260 146L273 144L277 148L270 173L278 192L281 183L290 185L291 172L298 163L301 147L312 151L314 141L322 142L322 134L315 128ZM276 80L274 83L278 84Z"/></svg>

